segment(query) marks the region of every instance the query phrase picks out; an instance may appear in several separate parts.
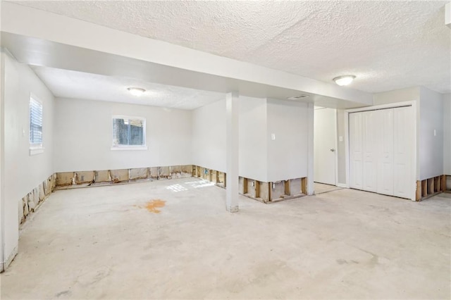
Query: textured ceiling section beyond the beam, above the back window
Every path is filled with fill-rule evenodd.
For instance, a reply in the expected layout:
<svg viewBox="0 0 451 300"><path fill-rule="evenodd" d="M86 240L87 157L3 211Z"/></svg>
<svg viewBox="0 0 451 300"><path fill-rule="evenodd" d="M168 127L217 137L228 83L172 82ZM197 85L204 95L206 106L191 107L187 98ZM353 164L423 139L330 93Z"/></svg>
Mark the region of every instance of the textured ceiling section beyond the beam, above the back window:
<svg viewBox="0 0 451 300"><path fill-rule="evenodd" d="M126 77L94 75L46 67L32 67L57 97L125 102L168 108L194 109L225 99L226 94L184 87L158 85ZM127 88L141 87L147 92L132 96Z"/></svg>

